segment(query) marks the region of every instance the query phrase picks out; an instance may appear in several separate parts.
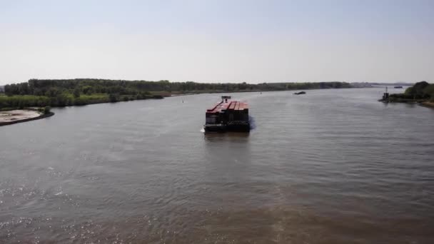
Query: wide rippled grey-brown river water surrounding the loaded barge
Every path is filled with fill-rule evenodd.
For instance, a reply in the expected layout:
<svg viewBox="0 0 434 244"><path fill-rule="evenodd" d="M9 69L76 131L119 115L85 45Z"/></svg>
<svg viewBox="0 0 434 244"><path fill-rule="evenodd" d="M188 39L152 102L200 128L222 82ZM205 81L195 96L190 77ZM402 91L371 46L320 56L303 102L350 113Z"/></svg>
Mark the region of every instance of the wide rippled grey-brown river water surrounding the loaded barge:
<svg viewBox="0 0 434 244"><path fill-rule="evenodd" d="M54 109L0 128L0 243L434 243L434 110L383 88ZM184 101L182 103L182 101Z"/></svg>

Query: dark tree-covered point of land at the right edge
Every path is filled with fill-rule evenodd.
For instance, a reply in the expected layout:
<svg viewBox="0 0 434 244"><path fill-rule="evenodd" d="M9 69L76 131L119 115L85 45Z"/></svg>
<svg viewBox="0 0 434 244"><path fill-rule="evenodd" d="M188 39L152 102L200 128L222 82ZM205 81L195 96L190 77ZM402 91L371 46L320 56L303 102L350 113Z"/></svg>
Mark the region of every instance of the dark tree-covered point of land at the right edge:
<svg viewBox="0 0 434 244"><path fill-rule="evenodd" d="M379 101L383 103L419 103L422 106L434 108L434 84L420 81L405 89L404 93L390 94L386 92Z"/></svg>

